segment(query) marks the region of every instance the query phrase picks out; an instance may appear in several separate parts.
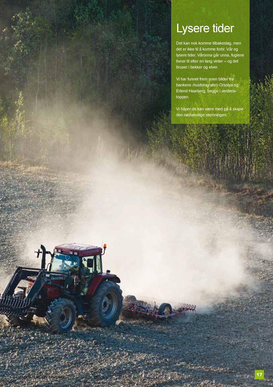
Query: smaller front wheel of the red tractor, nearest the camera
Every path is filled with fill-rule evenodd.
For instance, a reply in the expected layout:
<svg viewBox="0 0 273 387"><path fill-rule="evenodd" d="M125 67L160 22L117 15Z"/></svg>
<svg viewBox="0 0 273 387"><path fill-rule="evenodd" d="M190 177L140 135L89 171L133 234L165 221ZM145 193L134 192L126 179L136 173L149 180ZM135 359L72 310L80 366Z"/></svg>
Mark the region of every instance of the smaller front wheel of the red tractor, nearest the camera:
<svg viewBox="0 0 273 387"><path fill-rule="evenodd" d="M68 332L75 324L75 304L66 298L56 298L56 300L52 301L49 305L44 320L48 332Z"/></svg>

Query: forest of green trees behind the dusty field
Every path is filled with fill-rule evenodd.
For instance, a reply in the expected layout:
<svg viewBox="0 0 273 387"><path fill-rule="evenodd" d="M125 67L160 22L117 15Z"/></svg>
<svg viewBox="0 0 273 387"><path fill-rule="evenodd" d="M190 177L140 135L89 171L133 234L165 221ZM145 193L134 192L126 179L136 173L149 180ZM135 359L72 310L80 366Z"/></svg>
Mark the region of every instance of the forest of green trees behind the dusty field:
<svg viewBox="0 0 273 387"><path fill-rule="evenodd" d="M128 146L151 158L169 154L215 178L272 180L272 0L250 1L249 125L171 124L170 0L0 0L0 7L1 159L87 154L106 117L112 132L122 127Z"/></svg>

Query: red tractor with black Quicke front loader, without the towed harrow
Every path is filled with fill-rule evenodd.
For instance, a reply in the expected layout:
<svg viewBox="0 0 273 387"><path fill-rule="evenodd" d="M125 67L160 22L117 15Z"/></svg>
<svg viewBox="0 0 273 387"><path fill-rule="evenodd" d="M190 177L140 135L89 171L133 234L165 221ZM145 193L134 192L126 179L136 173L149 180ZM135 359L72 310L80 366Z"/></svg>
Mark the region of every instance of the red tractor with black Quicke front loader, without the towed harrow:
<svg viewBox="0 0 273 387"><path fill-rule="evenodd" d="M72 329L82 315L95 327L115 324L122 308L119 277L102 271L101 247L66 243L42 255L41 269L17 266L0 298L0 314L9 325L24 325L33 316L44 317L49 332ZM46 268L46 255L51 260ZM27 281L27 284L21 281ZM22 286L18 286L20 285ZM23 286L25 285L25 286ZM18 286L19 291L15 292Z"/></svg>

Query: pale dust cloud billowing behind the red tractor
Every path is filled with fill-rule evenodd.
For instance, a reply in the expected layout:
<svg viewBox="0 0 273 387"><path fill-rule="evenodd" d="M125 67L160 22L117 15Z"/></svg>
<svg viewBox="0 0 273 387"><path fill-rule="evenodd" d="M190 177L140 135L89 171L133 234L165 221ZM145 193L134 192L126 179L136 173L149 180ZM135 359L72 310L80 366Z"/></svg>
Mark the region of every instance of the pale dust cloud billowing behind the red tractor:
<svg viewBox="0 0 273 387"><path fill-rule="evenodd" d="M75 213L47 217L46 228L27 236L29 257L41 241L51 251L60 243L103 241L103 271L120 277L124 296L174 304L204 307L251 285L243 260L252 231L240 231L228 211L207 204L187 180L106 149L85 165L83 180Z"/></svg>

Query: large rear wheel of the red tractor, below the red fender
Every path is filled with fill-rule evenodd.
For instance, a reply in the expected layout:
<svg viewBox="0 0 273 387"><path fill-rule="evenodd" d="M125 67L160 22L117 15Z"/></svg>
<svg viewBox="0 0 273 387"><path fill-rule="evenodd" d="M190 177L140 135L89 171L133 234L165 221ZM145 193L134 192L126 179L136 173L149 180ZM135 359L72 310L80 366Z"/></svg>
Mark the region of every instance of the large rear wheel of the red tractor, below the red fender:
<svg viewBox="0 0 273 387"><path fill-rule="evenodd" d="M122 291L112 281L101 283L91 299L88 321L94 327L109 327L119 319L122 308Z"/></svg>

